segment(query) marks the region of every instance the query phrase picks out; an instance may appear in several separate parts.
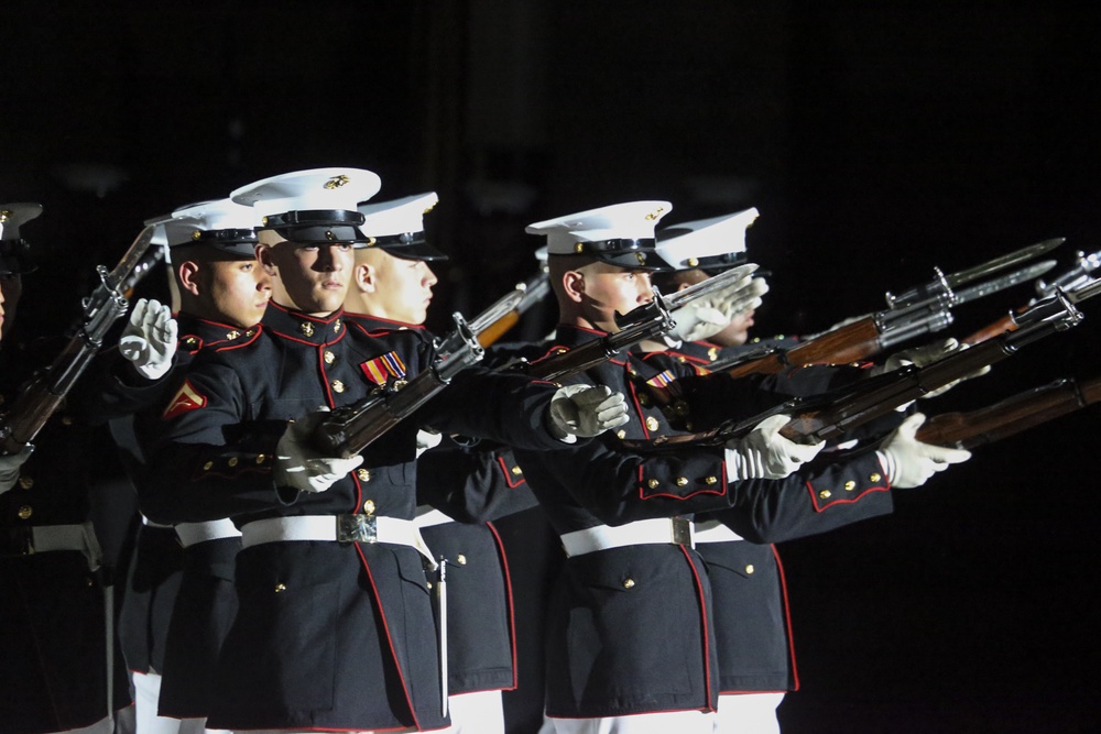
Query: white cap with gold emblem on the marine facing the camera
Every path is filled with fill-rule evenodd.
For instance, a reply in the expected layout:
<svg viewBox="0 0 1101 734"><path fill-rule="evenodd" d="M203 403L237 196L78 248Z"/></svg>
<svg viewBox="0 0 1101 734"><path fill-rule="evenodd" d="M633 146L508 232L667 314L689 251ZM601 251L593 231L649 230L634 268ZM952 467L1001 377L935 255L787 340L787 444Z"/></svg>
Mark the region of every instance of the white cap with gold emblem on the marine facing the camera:
<svg viewBox="0 0 1101 734"><path fill-rule="evenodd" d="M379 193L378 174L362 168L313 168L264 178L230 194L252 207L258 229L294 242L362 242L357 205Z"/></svg>

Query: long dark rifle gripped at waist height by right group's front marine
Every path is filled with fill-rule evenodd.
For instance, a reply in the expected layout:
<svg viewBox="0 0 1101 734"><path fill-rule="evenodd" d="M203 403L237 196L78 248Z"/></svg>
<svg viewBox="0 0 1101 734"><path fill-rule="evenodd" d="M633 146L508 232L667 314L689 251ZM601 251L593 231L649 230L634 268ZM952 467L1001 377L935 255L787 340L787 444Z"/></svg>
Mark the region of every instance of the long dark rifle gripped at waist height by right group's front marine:
<svg viewBox="0 0 1101 734"><path fill-rule="evenodd" d="M791 417L780 432L793 441L815 443L837 438L988 364L1012 357L1026 344L1077 326L1084 317L1075 304L1098 293L1101 293L1101 280L1069 293L1057 291L1020 315L1021 326L1016 330L952 352L923 368L909 365L832 393L794 398L749 419L727 420L709 431L661 436L650 441L623 441L623 446L639 451L667 451L686 445L722 445L749 434L762 420L776 414Z"/></svg>

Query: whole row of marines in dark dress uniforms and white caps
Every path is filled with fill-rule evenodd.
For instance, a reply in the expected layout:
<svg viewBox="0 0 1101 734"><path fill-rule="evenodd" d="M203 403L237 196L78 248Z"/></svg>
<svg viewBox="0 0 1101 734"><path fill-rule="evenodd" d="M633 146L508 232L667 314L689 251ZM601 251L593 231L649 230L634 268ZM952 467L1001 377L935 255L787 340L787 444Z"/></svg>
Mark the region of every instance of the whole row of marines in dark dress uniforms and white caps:
<svg viewBox="0 0 1101 734"><path fill-rule="evenodd" d="M0 704L3 731L504 732L501 693L524 682L515 607L528 602L545 614L545 703L514 731L777 732L798 680L772 544L890 513L894 490L970 454L918 441L912 409L829 447L785 438L784 415L724 446L630 441L958 344L754 380L710 373L767 291L743 265L756 211L657 232L668 202L613 205L527 227L544 239L553 335L493 347L362 452L327 456L312 436L329 410L440 358L424 328L429 263L444 258L424 231L436 197L372 202L380 188L369 171L294 172L148 222L173 303L138 300L42 450L0 458L0 566L22 600L0 618L25 633L0 665L22 693ZM7 335L12 283L30 270L19 226L41 208L4 210ZM655 284L674 293L735 266L748 274L676 311L661 340L556 383L515 368L619 331ZM66 462L110 453L103 427L141 518L124 662L89 522L97 492L32 481L61 470L78 484L84 469ZM549 527L560 548L545 609L513 599L493 524L536 504L548 525L533 524L532 543ZM103 645L44 643L69 632ZM112 715L131 699L132 721Z"/></svg>

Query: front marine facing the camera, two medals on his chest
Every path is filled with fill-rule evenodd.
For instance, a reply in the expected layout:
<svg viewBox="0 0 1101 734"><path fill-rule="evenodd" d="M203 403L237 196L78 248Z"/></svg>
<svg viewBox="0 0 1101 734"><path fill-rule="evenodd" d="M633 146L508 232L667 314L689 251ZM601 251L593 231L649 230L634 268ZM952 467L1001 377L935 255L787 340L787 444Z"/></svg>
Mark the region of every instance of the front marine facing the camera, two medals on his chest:
<svg viewBox="0 0 1101 734"><path fill-rule="evenodd" d="M411 525L417 426L559 447L545 423L552 387L466 371L325 491L276 482L288 420L349 405L434 358L423 332L374 332L339 308L351 244L367 241L356 205L378 188L370 172L320 169L235 191L262 217L261 252L279 267L273 303L251 338L200 354L162 412L153 473L168 481L151 487L151 517L231 516L243 533L211 726L446 725L427 559ZM484 401L487 390L499 399Z"/></svg>

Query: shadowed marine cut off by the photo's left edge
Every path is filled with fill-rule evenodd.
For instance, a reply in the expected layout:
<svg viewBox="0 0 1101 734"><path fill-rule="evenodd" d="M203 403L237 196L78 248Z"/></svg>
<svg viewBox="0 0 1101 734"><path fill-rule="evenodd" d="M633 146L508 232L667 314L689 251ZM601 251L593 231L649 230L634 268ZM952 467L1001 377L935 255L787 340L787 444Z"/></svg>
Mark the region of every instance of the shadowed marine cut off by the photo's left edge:
<svg viewBox="0 0 1101 734"><path fill-rule="evenodd" d="M12 332L22 276L36 270L20 228L41 211L37 204L0 205L0 409L61 346L40 335L21 341ZM30 321L22 319L24 327ZM130 703L113 636L113 559L100 547L100 538L110 535L101 521L112 516L98 511L122 504L100 491L123 489L113 482L118 468L109 449L106 431L90 429L63 406L35 437L34 452L11 482L0 486L4 732L110 732L113 713Z"/></svg>

